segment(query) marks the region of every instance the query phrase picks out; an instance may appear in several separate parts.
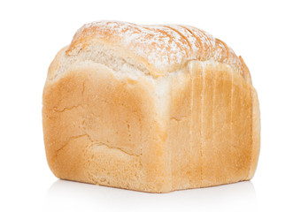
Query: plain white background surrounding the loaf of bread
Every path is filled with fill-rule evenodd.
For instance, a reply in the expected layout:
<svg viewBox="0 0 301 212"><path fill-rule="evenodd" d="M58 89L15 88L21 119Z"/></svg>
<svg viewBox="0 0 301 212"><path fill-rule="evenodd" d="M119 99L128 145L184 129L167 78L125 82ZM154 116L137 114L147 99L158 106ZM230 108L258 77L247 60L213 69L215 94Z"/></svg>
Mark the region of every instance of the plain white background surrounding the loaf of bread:
<svg viewBox="0 0 301 212"><path fill-rule="evenodd" d="M301 211L299 1L1 1L0 211ZM58 180L42 138L49 64L84 23L185 24L227 42L249 66L261 110L250 182L166 194Z"/></svg>

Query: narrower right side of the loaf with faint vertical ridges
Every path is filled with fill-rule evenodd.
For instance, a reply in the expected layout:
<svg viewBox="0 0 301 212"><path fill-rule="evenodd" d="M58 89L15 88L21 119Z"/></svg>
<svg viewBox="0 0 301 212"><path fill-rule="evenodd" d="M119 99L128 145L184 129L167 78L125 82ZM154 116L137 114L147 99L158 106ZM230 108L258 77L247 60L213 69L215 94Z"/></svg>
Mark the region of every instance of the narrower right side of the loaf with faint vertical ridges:
<svg viewBox="0 0 301 212"><path fill-rule="evenodd" d="M194 61L188 69L171 90L173 190L250 179L259 156L254 88L227 64Z"/></svg>

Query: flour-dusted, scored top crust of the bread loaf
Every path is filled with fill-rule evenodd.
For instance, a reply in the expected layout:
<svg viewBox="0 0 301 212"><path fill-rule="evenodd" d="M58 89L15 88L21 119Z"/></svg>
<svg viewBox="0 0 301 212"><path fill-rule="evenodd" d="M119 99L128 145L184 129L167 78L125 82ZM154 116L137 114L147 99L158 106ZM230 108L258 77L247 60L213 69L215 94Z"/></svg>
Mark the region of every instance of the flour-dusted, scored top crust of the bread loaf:
<svg viewBox="0 0 301 212"><path fill-rule="evenodd" d="M66 49L66 56L101 45L128 64L150 74L165 76L186 66L189 61L228 64L251 84L242 57L225 42L196 27L181 25L135 25L120 21L98 21L81 27Z"/></svg>

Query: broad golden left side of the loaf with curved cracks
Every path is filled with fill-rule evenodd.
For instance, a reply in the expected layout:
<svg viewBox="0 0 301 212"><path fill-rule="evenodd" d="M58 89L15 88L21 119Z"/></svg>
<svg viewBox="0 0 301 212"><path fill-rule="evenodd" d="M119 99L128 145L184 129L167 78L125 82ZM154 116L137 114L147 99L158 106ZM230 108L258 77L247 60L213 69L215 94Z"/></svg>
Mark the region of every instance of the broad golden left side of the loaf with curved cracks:
<svg viewBox="0 0 301 212"><path fill-rule="evenodd" d="M58 178L163 190L166 123L160 111L167 105L158 108L157 87L146 78L117 78L94 62L76 64L46 85L42 112L50 169Z"/></svg>

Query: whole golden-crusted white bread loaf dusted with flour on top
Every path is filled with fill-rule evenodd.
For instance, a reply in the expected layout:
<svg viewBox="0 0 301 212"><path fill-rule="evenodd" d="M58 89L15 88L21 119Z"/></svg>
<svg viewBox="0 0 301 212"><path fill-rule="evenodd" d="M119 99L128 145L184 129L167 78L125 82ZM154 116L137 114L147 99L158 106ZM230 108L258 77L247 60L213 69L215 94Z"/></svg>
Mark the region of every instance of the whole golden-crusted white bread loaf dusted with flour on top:
<svg viewBox="0 0 301 212"><path fill-rule="evenodd" d="M249 180L256 170L249 70L195 27L81 27L50 64L42 105L58 178L166 193Z"/></svg>

